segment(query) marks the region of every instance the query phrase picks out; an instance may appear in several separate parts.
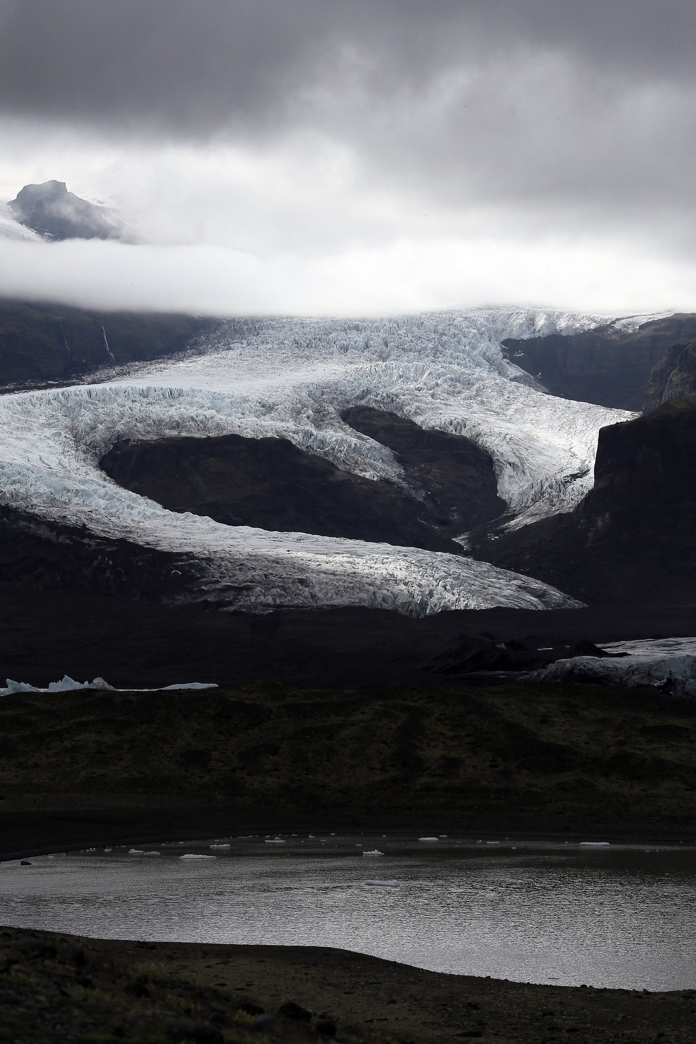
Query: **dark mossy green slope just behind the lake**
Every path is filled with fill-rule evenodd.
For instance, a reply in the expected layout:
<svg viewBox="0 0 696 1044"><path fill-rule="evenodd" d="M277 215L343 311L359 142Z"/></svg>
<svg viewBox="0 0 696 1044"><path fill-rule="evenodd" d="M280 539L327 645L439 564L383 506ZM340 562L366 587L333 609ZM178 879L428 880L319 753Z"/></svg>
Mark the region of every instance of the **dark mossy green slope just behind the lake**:
<svg viewBox="0 0 696 1044"><path fill-rule="evenodd" d="M13 823L28 830L34 816L41 830L66 814L95 825L147 814L145 832L308 818L677 837L696 829L696 706L650 690L258 683L28 693L0 701L0 736L7 853Z"/></svg>

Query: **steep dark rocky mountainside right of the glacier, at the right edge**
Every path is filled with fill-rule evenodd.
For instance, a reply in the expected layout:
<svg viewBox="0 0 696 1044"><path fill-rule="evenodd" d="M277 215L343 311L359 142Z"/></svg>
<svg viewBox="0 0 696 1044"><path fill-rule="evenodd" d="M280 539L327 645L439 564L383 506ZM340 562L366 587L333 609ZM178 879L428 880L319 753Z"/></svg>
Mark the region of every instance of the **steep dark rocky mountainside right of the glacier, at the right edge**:
<svg viewBox="0 0 696 1044"><path fill-rule="evenodd" d="M602 428L595 488L573 513L475 553L594 603L696 603L696 396Z"/></svg>

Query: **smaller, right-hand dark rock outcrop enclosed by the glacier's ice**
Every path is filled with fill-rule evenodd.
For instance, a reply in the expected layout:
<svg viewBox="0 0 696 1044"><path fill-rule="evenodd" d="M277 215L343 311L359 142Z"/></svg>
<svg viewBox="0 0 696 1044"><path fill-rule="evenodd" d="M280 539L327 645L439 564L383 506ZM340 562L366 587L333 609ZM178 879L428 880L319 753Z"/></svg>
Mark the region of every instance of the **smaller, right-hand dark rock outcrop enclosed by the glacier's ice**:
<svg viewBox="0 0 696 1044"><path fill-rule="evenodd" d="M490 454L462 435L428 431L397 413L355 406L341 414L388 446L429 515L454 536L504 514Z"/></svg>

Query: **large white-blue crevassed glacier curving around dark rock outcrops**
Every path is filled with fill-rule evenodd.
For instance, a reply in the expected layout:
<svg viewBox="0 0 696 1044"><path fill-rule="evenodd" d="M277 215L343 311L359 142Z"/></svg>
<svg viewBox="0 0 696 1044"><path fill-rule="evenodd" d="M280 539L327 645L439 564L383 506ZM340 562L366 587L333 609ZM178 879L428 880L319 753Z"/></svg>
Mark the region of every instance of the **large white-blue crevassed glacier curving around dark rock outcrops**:
<svg viewBox="0 0 696 1044"><path fill-rule="evenodd" d="M282 436L344 470L404 487L393 454L341 420L349 406L365 405L486 449L508 505L505 524L525 525L575 506L592 487L599 429L634 414L545 394L504 358L500 342L605 321L478 308L223 322L185 357L101 375L97 383L0 397L0 503L193 555L205 573L196 597L239 610L341 604L421 616L577 604L537 580L463 556L167 512L116 485L98 461L118 440Z"/></svg>

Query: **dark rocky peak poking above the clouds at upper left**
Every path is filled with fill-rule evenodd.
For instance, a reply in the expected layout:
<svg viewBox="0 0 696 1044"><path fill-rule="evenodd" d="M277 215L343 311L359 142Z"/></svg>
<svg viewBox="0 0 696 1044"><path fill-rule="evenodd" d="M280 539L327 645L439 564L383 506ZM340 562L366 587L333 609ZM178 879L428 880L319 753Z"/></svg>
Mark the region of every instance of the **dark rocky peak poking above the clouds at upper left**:
<svg viewBox="0 0 696 1044"><path fill-rule="evenodd" d="M65 182L25 185L8 204L20 224L47 239L120 239L123 230L105 207L68 192Z"/></svg>

